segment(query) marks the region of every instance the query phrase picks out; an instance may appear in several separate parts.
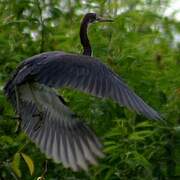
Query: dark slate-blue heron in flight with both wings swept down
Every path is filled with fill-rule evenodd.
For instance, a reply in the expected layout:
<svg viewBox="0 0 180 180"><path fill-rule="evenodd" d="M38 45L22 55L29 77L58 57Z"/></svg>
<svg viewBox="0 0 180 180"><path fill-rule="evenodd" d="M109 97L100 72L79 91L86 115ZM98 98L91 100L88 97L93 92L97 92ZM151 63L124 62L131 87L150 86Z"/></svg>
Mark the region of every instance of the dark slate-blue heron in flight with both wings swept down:
<svg viewBox="0 0 180 180"><path fill-rule="evenodd" d="M111 98L148 119L161 119L116 73L91 57L87 29L93 22L111 20L96 13L84 16L80 27L82 55L53 51L30 57L17 67L4 87L24 132L47 157L74 171L87 170L104 154L94 132L68 108L56 89L69 87Z"/></svg>

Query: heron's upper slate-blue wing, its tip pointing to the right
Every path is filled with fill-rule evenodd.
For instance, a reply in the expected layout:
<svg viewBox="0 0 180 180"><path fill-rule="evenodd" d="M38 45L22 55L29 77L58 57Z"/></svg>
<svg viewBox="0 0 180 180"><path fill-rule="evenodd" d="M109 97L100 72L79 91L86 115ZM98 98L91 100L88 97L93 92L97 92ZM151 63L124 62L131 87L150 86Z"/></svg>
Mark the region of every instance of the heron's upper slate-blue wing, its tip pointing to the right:
<svg viewBox="0 0 180 180"><path fill-rule="evenodd" d="M25 66L25 72L31 69L26 78L32 78L49 87L68 86L98 97L112 98L147 118L161 119L159 113L130 90L117 74L95 58L54 53L35 62L33 68ZM17 84L22 82L23 70L21 72L14 80Z"/></svg>

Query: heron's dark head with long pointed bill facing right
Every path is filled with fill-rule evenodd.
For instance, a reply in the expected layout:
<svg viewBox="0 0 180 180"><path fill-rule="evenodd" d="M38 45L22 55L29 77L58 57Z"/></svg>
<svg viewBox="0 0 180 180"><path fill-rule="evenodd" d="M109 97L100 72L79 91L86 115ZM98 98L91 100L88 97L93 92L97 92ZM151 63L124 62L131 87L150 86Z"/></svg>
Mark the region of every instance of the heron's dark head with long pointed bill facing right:
<svg viewBox="0 0 180 180"><path fill-rule="evenodd" d="M100 17L96 13L87 13L84 16L83 21L86 23L93 23L93 22L112 22L113 20Z"/></svg>

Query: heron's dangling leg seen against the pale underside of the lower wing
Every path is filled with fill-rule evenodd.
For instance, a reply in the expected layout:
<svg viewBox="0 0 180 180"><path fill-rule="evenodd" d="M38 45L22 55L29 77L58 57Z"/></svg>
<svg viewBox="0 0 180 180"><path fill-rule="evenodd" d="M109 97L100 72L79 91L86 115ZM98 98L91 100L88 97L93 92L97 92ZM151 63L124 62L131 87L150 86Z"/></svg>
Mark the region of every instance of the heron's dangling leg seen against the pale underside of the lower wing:
<svg viewBox="0 0 180 180"><path fill-rule="evenodd" d="M38 99L37 99L37 97L36 97L36 95L32 89L32 86L30 84L29 84L29 88L30 88L33 100L34 100L36 108L37 108L37 112L34 113L32 115L32 117L39 117L39 120L36 123L35 128L34 128L34 130L37 131L43 124L43 110L42 110L41 104L39 103L39 101L38 101Z"/></svg>

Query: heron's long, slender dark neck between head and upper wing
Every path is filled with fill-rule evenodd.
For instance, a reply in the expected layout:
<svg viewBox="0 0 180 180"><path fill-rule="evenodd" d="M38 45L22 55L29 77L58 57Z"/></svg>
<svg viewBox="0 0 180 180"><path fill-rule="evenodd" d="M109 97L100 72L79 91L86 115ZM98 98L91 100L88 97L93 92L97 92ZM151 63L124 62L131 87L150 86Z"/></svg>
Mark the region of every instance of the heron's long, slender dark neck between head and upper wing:
<svg viewBox="0 0 180 180"><path fill-rule="evenodd" d="M81 23L81 28L80 28L80 39L81 39L81 44L84 49L83 55L91 56L92 50L91 50L91 45L89 43L89 39L87 36L87 28L88 28L88 21L86 19L83 19Z"/></svg>

